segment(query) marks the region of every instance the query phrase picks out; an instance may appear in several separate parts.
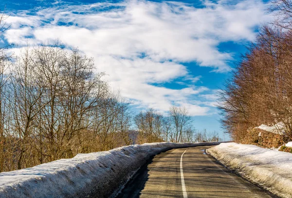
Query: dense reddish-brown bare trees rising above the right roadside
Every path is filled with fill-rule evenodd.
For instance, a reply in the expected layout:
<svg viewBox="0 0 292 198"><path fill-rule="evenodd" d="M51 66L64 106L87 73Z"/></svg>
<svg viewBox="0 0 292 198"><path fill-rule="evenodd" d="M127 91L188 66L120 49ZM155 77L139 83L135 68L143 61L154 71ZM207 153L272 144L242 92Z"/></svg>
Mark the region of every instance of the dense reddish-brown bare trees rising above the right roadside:
<svg viewBox="0 0 292 198"><path fill-rule="evenodd" d="M223 126L238 142L279 122L292 139L292 1L275 0L269 10L276 20L259 29L220 93Z"/></svg>

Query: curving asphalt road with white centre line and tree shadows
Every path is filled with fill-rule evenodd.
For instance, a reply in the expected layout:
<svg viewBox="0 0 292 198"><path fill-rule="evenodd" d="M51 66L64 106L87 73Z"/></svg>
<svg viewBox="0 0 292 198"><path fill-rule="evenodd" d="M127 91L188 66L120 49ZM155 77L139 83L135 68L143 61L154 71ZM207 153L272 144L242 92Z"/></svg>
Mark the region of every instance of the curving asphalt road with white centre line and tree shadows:
<svg viewBox="0 0 292 198"><path fill-rule="evenodd" d="M230 172L204 150L173 149L149 160L118 198L275 198ZM183 157L182 157L183 155Z"/></svg>

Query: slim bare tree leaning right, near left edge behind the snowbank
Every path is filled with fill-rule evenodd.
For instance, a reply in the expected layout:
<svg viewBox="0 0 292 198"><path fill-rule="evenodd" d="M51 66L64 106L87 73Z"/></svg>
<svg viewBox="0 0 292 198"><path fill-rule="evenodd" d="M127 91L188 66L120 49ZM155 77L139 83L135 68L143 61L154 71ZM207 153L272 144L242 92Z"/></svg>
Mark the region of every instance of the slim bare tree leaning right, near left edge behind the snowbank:
<svg viewBox="0 0 292 198"><path fill-rule="evenodd" d="M27 48L15 65L12 81L15 96L15 130L18 131L19 138L21 139L18 169L23 167L22 160L27 146L30 146L29 141L33 120L36 119L37 114L47 104L41 102L38 105L46 90L43 86L43 78L37 71L33 58L30 56L29 49Z"/></svg>

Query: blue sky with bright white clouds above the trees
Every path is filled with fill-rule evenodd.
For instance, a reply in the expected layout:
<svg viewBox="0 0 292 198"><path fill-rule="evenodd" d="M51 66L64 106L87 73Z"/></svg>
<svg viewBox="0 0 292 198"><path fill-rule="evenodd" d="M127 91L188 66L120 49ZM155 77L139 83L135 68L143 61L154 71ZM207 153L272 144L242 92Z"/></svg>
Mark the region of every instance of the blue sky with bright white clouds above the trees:
<svg viewBox="0 0 292 198"><path fill-rule="evenodd" d="M0 45L61 40L95 59L133 111L184 106L197 129L222 135L216 92L259 25L262 0L5 0ZM17 51L17 49L15 49Z"/></svg>

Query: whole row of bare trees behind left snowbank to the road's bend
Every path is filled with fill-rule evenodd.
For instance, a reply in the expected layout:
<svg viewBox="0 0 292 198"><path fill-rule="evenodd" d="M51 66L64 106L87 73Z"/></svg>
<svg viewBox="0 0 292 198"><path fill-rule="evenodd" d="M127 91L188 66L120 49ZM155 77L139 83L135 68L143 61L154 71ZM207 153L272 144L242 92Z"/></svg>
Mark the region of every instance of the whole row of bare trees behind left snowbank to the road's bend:
<svg viewBox="0 0 292 198"><path fill-rule="evenodd" d="M0 37L7 29L0 14ZM130 102L112 92L93 59L61 44L0 49L0 172L78 153L146 142L218 141L196 133L183 107L132 116Z"/></svg>

